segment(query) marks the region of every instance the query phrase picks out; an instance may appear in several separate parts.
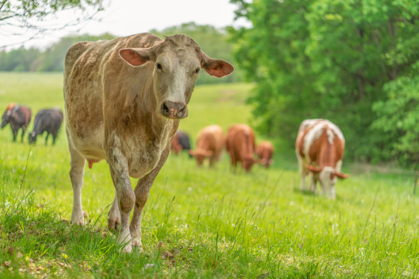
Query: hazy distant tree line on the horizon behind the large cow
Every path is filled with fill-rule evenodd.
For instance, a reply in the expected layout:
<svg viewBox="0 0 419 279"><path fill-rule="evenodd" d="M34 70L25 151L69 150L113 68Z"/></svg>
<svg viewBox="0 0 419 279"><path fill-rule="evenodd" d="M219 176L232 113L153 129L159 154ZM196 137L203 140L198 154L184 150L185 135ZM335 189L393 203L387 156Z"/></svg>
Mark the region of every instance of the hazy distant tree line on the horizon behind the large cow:
<svg viewBox="0 0 419 279"><path fill-rule="evenodd" d="M199 44L208 55L231 61L232 46L228 41L229 35L226 31L216 29L210 25L196 25L195 23L185 23L175 27L168 27L159 30L151 30L151 33L164 38L173 34L186 34ZM64 69L64 57L66 51L75 42L112 40L116 36L103 34L101 36L66 36L59 42L51 45L45 51L39 49L25 49L20 47L12 51L0 51L0 71L14 72L60 72ZM225 79L214 79L209 75L200 75L197 84L218 83L218 82L237 82L242 81L240 70Z"/></svg>

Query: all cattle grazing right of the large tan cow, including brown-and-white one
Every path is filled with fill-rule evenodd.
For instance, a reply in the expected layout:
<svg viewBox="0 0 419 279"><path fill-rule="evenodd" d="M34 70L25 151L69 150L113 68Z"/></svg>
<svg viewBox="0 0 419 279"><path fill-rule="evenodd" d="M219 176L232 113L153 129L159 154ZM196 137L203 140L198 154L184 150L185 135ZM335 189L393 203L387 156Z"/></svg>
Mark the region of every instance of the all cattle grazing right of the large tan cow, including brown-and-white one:
<svg viewBox="0 0 419 279"><path fill-rule="evenodd" d="M301 123L296 138L296 157L303 191L306 190L305 178L309 175L311 191L316 191L316 182L319 181L322 194L335 198L336 181L338 178L348 178L348 174L341 172L344 146L342 131L329 120L307 119ZM236 168L240 161L246 172L250 172L254 163L260 163L266 168L272 163L273 145L263 141L255 146L255 133L246 124L234 124L226 136L218 125L203 128L198 133L195 150L190 148L188 134L177 131L170 146L175 155L181 150L187 150L199 166L205 159L213 166L220 159L223 148L229 153L233 167Z"/></svg>

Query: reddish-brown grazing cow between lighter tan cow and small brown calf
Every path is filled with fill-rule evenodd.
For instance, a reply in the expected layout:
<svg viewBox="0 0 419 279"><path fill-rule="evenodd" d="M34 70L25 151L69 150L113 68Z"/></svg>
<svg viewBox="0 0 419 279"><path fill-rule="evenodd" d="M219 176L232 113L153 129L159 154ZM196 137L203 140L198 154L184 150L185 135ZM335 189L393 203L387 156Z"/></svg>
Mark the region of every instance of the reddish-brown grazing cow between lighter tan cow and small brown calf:
<svg viewBox="0 0 419 279"><path fill-rule="evenodd" d="M253 129L246 124L234 124L229 128L225 144L233 167L236 168L237 161L241 161L242 168L250 172L253 164L257 162L253 157L255 152Z"/></svg>

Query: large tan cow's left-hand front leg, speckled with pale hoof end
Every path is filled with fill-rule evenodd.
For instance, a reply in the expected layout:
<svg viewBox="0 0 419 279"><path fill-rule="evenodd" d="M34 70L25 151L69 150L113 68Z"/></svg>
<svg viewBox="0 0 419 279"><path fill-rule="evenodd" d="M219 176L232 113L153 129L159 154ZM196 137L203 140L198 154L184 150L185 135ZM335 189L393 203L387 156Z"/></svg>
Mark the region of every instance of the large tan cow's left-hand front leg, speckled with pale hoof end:
<svg viewBox="0 0 419 279"><path fill-rule="evenodd" d="M107 161L109 163L112 181L114 181L118 207L120 211L120 231L118 243L125 243L124 252L131 252L131 234L129 233L129 214L134 207L135 194L129 179L127 158L118 147L109 148Z"/></svg>

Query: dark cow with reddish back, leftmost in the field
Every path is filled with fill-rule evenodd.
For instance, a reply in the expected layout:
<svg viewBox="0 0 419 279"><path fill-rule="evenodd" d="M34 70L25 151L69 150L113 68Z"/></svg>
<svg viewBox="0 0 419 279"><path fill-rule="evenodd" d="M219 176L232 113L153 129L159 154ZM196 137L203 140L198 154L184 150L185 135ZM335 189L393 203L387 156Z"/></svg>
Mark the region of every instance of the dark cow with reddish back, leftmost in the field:
<svg viewBox="0 0 419 279"><path fill-rule="evenodd" d="M23 142L23 134L27 128L27 125L31 121L31 109L25 105L18 105L16 103L10 103L4 111L3 117L1 118L1 129L10 123L13 133L13 142L16 142L16 136L19 129L22 129L21 142Z"/></svg>

